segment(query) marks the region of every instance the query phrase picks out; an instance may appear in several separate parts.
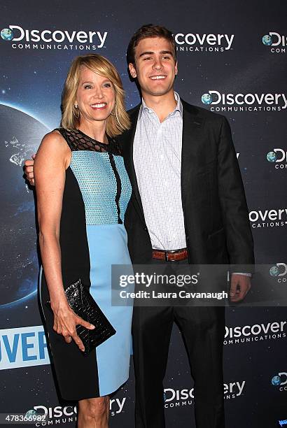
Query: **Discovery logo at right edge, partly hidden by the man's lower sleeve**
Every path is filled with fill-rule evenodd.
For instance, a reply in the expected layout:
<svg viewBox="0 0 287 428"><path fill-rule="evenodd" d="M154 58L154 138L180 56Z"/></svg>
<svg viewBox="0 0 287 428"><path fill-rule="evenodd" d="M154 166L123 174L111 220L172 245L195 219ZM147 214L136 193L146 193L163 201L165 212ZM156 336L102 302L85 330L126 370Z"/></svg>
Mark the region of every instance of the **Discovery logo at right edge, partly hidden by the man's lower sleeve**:
<svg viewBox="0 0 287 428"><path fill-rule="evenodd" d="M250 211L249 221L251 227L282 227L287 225L287 208L277 208L276 210Z"/></svg>

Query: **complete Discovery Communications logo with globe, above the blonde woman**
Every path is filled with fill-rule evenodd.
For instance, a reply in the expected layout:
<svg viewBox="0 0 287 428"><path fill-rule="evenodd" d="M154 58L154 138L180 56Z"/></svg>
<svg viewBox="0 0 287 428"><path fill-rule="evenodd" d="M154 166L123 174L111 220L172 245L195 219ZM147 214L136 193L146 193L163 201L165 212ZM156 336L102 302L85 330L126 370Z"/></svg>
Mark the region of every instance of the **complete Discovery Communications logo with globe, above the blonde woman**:
<svg viewBox="0 0 287 428"><path fill-rule="evenodd" d="M96 50L103 48L107 31L75 31L24 29L9 25L1 30L1 38L11 41L13 49Z"/></svg>

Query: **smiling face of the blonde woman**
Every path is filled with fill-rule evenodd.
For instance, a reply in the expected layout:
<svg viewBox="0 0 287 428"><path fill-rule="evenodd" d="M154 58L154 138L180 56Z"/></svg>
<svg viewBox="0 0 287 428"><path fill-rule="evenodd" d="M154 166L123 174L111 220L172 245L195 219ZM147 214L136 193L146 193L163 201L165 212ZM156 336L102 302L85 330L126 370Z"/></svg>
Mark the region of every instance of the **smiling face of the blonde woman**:
<svg viewBox="0 0 287 428"><path fill-rule="evenodd" d="M82 66L75 104L80 110L80 123L105 121L113 111L116 94L111 80Z"/></svg>

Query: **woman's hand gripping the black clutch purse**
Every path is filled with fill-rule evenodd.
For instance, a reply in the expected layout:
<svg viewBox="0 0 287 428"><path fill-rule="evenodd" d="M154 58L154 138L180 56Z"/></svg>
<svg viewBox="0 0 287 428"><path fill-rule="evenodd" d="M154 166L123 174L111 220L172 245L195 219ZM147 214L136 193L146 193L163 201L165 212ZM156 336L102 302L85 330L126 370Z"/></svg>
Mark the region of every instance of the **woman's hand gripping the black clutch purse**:
<svg viewBox="0 0 287 428"><path fill-rule="evenodd" d="M94 325L76 315L68 303L57 305L51 303L51 308L54 313L53 329L57 334L62 334L62 336L64 336L66 343L71 343L73 339L76 345L78 345L78 348L84 351L85 347L77 334L76 325L83 325L83 327L90 330L94 329Z"/></svg>

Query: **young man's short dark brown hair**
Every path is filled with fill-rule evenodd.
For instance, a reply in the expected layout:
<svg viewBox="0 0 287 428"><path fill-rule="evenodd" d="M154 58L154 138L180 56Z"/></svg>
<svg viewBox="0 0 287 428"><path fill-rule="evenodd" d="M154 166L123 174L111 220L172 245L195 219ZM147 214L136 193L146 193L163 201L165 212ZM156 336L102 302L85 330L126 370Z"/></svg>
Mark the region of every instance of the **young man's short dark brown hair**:
<svg viewBox="0 0 287 428"><path fill-rule="evenodd" d="M134 48L143 38L148 37L161 37L169 41L172 45L174 60L176 61L176 43L172 37L172 31L169 31L169 29L162 27L161 25L146 24L139 28L130 39L130 43L127 47L127 64L135 63Z"/></svg>

